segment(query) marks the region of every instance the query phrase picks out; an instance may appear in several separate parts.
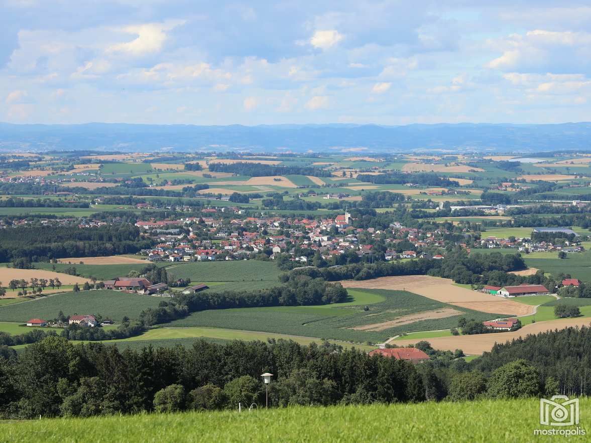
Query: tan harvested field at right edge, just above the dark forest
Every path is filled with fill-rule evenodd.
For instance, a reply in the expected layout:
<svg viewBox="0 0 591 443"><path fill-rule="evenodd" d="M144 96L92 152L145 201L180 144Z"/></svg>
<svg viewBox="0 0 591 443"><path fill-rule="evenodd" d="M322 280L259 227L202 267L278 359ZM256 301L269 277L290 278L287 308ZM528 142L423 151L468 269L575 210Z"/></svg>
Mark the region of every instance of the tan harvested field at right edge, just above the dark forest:
<svg viewBox="0 0 591 443"><path fill-rule="evenodd" d="M528 334L538 334L555 329L564 329L570 326L589 326L589 318L564 318L560 320L538 321L525 325L518 331L495 333L495 334L475 334L475 335L455 335L450 337L427 338L427 341L436 349L454 351L461 349L469 355L480 355L485 351L490 351L495 343L505 343L505 341L514 338L525 337ZM396 346L407 346L414 344L417 340L396 340Z"/></svg>

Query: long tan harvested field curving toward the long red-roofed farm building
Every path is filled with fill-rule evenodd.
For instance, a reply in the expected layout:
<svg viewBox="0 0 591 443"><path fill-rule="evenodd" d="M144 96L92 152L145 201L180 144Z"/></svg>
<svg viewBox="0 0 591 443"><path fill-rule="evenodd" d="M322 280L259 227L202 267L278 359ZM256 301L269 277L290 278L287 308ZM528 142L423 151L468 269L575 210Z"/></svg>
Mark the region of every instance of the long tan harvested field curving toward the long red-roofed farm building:
<svg viewBox="0 0 591 443"><path fill-rule="evenodd" d="M491 312L491 314L527 315L534 312L533 306L507 300L498 295L483 294L471 289L460 288L448 278L405 275L360 281L345 280L341 283L345 288L393 289L414 292L414 294L460 308Z"/></svg>

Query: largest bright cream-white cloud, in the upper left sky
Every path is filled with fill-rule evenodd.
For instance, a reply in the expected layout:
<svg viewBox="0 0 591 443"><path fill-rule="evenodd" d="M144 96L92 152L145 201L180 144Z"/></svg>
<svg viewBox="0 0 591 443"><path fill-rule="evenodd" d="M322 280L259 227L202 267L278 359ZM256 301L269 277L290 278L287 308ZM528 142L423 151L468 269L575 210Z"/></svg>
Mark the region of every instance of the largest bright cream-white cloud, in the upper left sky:
<svg viewBox="0 0 591 443"><path fill-rule="evenodd" d="M137 37L125 43L117 43L106 49L107 53L124 53L131 56L144 56L158 53L167 40L167 31L173 30L184 20L174 20L165 23L147 23L125 27L121 32L134 34Z"/></svg>

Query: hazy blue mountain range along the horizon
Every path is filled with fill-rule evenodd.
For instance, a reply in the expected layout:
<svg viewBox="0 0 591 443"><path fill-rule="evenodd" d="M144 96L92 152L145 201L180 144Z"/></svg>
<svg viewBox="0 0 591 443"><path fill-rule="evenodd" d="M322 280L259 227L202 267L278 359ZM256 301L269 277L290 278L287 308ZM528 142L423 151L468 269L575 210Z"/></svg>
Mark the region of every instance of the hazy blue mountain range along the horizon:
<svg viewBox="0 0 591 443"><path fill-rule="evenodd" d="M591 149L591 122L556 125L195 126L87 123L0 123L0 150L253 152L519 152Z"/></svg>

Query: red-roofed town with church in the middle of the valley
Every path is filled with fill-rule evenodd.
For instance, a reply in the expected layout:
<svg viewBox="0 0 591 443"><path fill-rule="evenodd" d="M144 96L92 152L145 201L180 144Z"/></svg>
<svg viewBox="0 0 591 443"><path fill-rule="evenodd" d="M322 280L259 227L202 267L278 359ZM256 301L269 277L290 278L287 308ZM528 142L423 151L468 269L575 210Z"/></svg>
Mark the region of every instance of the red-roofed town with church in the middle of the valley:
<svg viewBox="0 0 591 443"><path fill-rule="evenodd" d="M352 226L353 220L348 212L321 220L270 216L228 219L216 212L216 209L209 209L203 210L204 216L201 217L137 222L135 225L150 233L155 243L140 253L152 262L235 260L251 258L262 252L273 259L278 253L289 253L291 259L305 263L316 252L326 260L351 251L360 257L373 253L373 240L384 239L386 234L386 260L444 258L440 252L444 247L445 230L423 232L400 223L392 223L385 231L373 227L356 228ZM405 240L416 250L400 252L398 243ZM303 255L301 250L307 253Z"/></svg>

